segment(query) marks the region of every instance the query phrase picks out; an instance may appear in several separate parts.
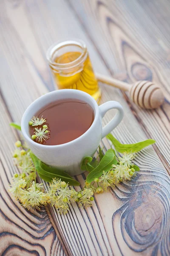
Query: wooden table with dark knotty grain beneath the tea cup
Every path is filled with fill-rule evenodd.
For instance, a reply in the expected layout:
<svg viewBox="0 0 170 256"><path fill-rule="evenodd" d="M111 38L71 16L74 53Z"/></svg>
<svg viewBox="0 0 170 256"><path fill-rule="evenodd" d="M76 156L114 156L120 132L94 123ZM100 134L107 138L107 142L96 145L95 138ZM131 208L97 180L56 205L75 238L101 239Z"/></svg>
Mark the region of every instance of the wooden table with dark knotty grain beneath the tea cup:
<svg viewBox="0 0 170 256"><path fill-rule="evenodd" d="M168 0L0 1L0 255L170 255L169 24ZM34 99L55 90L45 52L68 37L85 41L97 72L160 84L166 100L153 111L101 84L102 102L117 100L125 110L116 138L150 137L156 144L137 154L139 175L96 195L92 208L71 204L67 215L51 207L28 211L8 192L20 135L9 123L20 123ZM101 145L110 147L106 139ZM85 175L77 178L83 183Z"/></svg>

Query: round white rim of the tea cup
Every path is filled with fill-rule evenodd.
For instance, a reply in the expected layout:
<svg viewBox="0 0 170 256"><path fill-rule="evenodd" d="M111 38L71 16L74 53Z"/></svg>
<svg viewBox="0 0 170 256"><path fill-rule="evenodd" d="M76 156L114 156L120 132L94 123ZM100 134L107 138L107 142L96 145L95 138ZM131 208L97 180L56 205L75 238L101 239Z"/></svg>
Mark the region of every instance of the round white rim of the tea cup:
<svg viewBox="0 0 170 256"><path fill-rule="evenodd" d="M92 123L92 125L88 128L87 131L85 131L84 134L82 134L81 136L79 136L78 138L76 138L75 140L71 140L67 143L63 143L63 144L59 144L59 145L43 145L43 144L39 144L37 142L35 142L34 140L31 139L31 137L29 137L29 134L27 133L26 131L26 116L28 115L29 111L31 108L33 108L37 102L39 102L40 100L44 100L45 102L45 99L47 99L48 97L50 97L52 94L57 94L57 93L63 93L63 92L74 92L75 93L75 99L76 99L76 94L84 94L85 97L88 97L89 99L91 99L91 101L94 103L94 107L92 107L95 111L95 116L94 116L94 121ZM68 97L69 98L69 97ZM85 100L85 99L84 99ZM86 102L86 100L85 100ZM36 111L35 111L36 112ZM71 145L71 144L74 144L76 142L78 142L79 140L81 140L83 137L85 137L89 131L91 131L91 129L94 127L94 125L96 124L97 122L97 119L99 117L99 106L97 104L97 102L95 101L95 99L88 93L84 92L84 91L81 91L81 90L75 90L75 89L61 89L61 90L55 90L55 91L52 91L52 92L49 92L49 93L46 93L45 95L42 95L40 96L39 98L35 99L34 102L32 102L28 108L26 108L26 111L23 113L23 117L21 119L21 131L22 131L22 134L23 134L23 137L29 141L29 143L31 143L32 145L34 146L37 146L37 147L40 147L40 148L62 148L64 146L68 146L68 145Z"/></svg>

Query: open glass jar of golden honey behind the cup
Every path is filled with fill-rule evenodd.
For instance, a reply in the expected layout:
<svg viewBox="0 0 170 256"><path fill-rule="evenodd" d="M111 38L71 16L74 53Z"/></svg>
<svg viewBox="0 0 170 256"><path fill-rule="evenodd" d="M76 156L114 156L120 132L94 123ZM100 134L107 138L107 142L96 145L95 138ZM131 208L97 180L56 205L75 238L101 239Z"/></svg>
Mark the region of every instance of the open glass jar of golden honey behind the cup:
<svg viewBox="0 0 170 256"><path fill-rule="evenodd" d="M47 60L59 89L82 90L99 102L101 89L83 41L71 39L52 45Z"/></svg>

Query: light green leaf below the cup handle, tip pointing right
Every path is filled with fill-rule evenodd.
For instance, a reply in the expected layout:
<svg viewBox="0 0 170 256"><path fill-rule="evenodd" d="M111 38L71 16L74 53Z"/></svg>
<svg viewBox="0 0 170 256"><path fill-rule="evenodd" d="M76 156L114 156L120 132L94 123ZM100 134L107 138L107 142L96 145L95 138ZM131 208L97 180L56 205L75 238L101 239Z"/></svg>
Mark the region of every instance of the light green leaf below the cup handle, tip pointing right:
<svg viewBox="0 0 170 256"><path fill-rule="evenodd" d="M112 134L108 134L106 136L106 138L108 140L111 140L111 142L113 143L116 151L118 151L120 153L124 153L126 151L129 151L131 153L138 152L142 148L145 148L145 147L147 147L147 146L156 142L155 140L148 139L148 140L140 141L138 143L133 143L133 144L122 144L118 140L116 140L116 138L113 137Z"/></svg>

